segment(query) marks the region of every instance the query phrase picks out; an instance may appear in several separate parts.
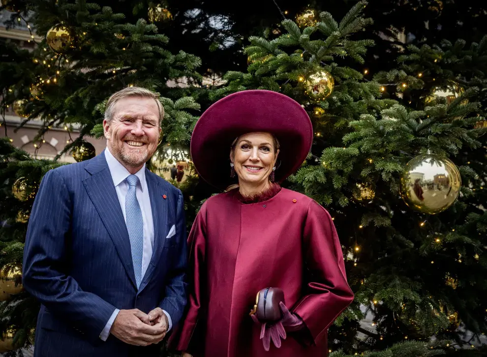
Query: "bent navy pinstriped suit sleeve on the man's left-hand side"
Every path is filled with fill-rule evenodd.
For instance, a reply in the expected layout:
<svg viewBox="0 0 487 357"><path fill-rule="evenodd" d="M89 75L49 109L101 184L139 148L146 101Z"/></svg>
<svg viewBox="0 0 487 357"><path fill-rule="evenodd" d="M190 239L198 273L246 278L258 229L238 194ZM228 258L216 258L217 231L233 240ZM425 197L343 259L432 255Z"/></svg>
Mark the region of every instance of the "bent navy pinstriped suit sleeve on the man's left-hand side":
<svg viewBox="0 0 487 357"><path fill-rule="evenodd" d="M60 172L49 171L42 179L30 212L22 282L54 315L79 327L91 340L97 340L115 306L83 291L66 273L71 205Z"/></svg>

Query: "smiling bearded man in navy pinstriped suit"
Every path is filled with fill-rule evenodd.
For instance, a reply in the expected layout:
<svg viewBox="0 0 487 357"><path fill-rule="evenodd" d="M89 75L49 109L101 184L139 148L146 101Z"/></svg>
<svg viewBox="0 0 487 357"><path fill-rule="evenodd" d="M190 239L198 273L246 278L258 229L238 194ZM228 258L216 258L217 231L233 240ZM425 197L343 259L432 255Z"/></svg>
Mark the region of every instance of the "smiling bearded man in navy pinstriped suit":
<svg viewBox="0 0 487 357"><path fill-rule="evenodd" d="M23 283L41 302L34 357L158 356L186 304L181 191L145 162L163 108L130 87L107 103L107 149L49 171L30 214Z"/></svg>

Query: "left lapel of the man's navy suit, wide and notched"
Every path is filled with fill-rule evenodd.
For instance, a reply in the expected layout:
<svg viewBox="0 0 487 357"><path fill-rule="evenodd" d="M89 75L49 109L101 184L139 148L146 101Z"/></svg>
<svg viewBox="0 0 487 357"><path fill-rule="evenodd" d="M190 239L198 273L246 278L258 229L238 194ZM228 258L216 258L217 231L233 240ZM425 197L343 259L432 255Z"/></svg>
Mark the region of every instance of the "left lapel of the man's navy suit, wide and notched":
<svg viewBox="0 0 487 357"><path fill-rule="evenodd" d="M88 196L112 238L113 244L135 288L135 273L132 263L132 250L127 226L123 219L120 201L115 191L113 179L108 169L105 153L91 159L85 168L92 176L83 180Z"/></svg>

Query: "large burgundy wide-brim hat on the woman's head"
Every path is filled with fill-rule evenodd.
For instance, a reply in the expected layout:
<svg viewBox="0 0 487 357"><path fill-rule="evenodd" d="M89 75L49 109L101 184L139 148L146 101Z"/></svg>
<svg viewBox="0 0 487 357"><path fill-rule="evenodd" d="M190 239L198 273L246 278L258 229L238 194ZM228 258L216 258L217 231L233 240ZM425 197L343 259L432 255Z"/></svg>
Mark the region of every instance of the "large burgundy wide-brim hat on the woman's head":
<svg viewBox="0 0 487 357"><path fill-rule="evenodd" d="M191 157L198 174L221 189L235 183L230 147L238 136L251 132L269 132L279 140L277 182L299 169L313 141L311 121L298 102L270 90L243 90L218 100L196 123Z"/></svg>

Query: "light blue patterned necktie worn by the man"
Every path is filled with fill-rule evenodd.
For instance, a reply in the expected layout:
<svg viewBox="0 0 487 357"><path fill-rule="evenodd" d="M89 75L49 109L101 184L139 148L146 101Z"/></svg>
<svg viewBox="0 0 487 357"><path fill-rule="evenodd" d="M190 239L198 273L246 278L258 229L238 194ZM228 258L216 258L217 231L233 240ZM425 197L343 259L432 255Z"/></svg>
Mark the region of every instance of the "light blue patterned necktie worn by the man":
<svg viewBox="0 0 487 357"><path fill-rule="evenodd" d="M135 175L130 175L126 180L128 182L128 192L125 197L125 217L130 247L132 248L135 281L137 288L139 288L142 281L142 251L144 249L144 223L142 222L142 211L136 195L139 178Z"/></svg>

